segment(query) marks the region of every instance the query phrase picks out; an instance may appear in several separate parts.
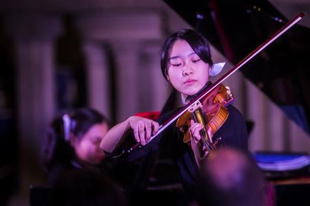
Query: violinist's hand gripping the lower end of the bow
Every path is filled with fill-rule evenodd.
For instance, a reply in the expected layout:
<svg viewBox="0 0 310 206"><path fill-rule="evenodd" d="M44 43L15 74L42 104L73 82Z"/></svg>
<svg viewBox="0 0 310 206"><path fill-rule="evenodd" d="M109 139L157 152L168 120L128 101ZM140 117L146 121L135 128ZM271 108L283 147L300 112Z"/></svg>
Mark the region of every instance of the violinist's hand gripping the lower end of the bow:
<svg viewBox="0 0 310 206"><path fill-rule="evenodd" d="M134 130L134 138L143 146L158 132L159 124L152 119L132 116L127 121L128 126Z"/></svg>

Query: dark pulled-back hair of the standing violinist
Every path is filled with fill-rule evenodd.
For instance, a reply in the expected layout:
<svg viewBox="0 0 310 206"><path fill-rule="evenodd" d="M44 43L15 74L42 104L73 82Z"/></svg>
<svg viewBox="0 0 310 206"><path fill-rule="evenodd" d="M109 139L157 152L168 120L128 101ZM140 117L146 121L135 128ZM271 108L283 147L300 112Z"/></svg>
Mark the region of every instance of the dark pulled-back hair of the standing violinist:
<svg viewBox="0 0 310 206"><path fill-rule="evenodd" d="M166 39L161 49L161 72L163 73L163 76L166 80L169 49L172 47L174 42L179 39L186 41L192 47L194 52L200 57L200 59L212 67L213 62L211 58L209 42L207 39L195 30L179 30Z"/></svg>

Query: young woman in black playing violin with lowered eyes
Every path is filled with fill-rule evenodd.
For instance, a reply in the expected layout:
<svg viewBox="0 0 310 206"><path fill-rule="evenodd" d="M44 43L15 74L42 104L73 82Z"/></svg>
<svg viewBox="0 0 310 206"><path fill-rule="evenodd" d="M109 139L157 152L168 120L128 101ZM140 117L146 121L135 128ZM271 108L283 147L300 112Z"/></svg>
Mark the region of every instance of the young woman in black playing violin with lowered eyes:
<svg viewBox="0 0 310 206"><path fill-rule="evenodd" d="M164 78L180 92L183 102L186 104L200 91L209 87L209 74L212 72L213 62L209 43L194 30L180 30L167 38L161 51L161 70ZM227 106L229 113L223 125L211 134L212 143L217 142L216 147L230 146L247 150L247 130L245 121L240 112L234 106ZM107 153L117 155L118 152L127 150L125 140L130 138L142 146L127 154L127 159L138 159L148 152L158 150L161 139L167 138L173 158L178 168L180 181L189 199L194 198L196 188L196 174L199 170L201 157L209 152L201 146L201 133L203 129L200 123L190 120L189 133L191 143L183 142L183 133L171 124L165 129L163 135L158 135L152 141L149 139L158 132L159 125L169 119L175 111L161 114L156 121L143 117L132 116L124 122L112 127L101 141L101 148ZM127 130L132 131L132 136L125 135ZM164 137L163 137L164 136ZM197 148L199 151L197 151ZM201 154L203 152L204 154Z"/></svg>

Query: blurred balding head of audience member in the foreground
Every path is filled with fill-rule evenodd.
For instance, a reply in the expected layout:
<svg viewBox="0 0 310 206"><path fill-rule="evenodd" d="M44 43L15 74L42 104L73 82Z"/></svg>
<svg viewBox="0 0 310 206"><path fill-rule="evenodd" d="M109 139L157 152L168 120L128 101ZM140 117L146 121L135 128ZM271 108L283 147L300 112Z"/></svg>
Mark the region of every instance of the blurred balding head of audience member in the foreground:
<svg viewBox="0 0 310 206"><path fill-rule="evenodd" d="M229 161L234 165L231 168L225 167ZM220 163L221 167L214 168L214 163ZM265 176L249 152L219 148L204 160L198 179L198 205L265 204Z"/></svg>

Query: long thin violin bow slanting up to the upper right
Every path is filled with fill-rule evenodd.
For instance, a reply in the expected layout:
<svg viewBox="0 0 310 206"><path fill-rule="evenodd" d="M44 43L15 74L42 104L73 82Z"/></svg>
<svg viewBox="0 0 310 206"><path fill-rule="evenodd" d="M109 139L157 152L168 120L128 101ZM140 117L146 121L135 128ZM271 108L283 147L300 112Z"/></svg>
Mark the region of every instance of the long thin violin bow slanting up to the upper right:
<svg viewBox="0 0 310 206"><path fill-rule="evenodd" d="M214 82L213 84L211 84L210 87L208 87L206 89L206 91L200 93L200 95L197 95L196 98L194 98L193 100L191 100L188 104L186 104L184 106L183 109L181 109L180 111L176 112L172 117L170 117L169 119L167 119L163 124L161 124L161 126L158 129L158 132L156 133L156 135L153 135L149 141L152 141L152 139L154 139L155 137L157 137L158 135L160 135L170 124L172 124L172 122L174 122L176 119L178 119L178 117L180 117L180 115L183 115L183 113L185 113L185 111L188 111L190 107L192 107L194 104L196 104L196 102L198 102L199 100L201 100L203 97L205 97L206 95L208 95L213 89L215 89L216 87L218 87L219 84L221 84L224 80L226 80L227 78L229 78L229 76L231 76L233 73L235 73L238 69L240 69L240 67L242 67L243 65L245 65L247 62L249 62L249 60L251 60L252 58L254 58L254 56L256 56L257 54L259 54L260 52L262 52L263 49L265 49L266 47L268 47L271 43L273 43L273 41L276 41L277 38L279 38L280 36L282 36L282 34L284 34L285 32L287 32L287 30L289 30L293 25L295 25L296 23L298 23L298 21L300 21L302 19L302 17L304 17L305 13L301 12L299 14L297 14L293 19L291 19L291 21L287 22L284 26L282 26L280 28L280 30L278 30L277 32L275 32L274 34L272 34L267 41L265 41L264 43L262 43L262 45L258 46L253 52L251 52L249 55L247 55L245 58L243 58L240 62L238 62L237 65L235 65L234 67L232 67L231 69L229 69L229 71L227 71L227 73L225 73L224 76L222 76L221 78L219 78L216 82ZM148 141L148 142L149 142ZM132 152L134 149L136 148L141 148L141 144L137 143L134 146L132 146L132 148L129 148L127 150L127 152Z"/></svg>

